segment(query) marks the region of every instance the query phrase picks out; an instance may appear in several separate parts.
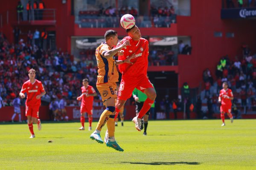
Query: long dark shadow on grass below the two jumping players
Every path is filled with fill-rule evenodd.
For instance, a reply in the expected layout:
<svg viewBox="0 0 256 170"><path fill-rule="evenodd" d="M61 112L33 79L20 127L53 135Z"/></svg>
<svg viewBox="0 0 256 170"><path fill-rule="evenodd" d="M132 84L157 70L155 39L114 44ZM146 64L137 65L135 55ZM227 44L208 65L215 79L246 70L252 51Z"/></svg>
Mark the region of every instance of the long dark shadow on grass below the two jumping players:
<svg viewBox="0 0 256 170"><path fill-rule="evenodd" d="M145 164L145 165L175 165L175 164L187 164L187 165L198 165L199 162L115 162L113 164Z"/></svg>

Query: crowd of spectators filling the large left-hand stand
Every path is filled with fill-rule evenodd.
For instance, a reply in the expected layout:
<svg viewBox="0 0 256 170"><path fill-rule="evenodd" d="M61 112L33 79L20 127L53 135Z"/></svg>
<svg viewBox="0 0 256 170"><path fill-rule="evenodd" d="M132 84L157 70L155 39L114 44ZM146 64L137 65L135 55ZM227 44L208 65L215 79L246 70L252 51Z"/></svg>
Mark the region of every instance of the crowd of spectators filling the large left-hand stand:
<svg viewBox="0 0 256 170"><path fill-rule="evenodd" d="M28 80L28 70L34 68L36 79L44 84L47 94L42 101L47 105L52 98L67 99L67 105L78 105L76 97L81 94L81 79L88 78L90 85L96 82L96 66L86 58L76 61L67 52L42 50L37 45L19 41L10 44L0 33L0 96L4 105L20 92ZM97 99L97 97L96 97Z"/></svg>

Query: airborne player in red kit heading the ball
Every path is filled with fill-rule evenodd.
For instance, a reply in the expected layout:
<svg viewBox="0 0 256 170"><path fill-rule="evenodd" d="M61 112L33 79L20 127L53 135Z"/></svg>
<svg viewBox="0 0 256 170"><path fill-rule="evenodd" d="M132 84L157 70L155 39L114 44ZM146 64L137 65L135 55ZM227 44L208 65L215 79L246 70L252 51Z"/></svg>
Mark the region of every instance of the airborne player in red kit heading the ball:
<svg viewBox="0 0 256 170"><path fill-rule="evenodd" d="M141 37L140 29L134 25L130 29L126 29L127 37L124 37L117 46L122 45L126 40L130 41L130 46L126 46L122 50L123 55L118 56L119 60L124 60L131 54L135 54L131 59L133 64L124 63L118 65L119 71L122 73L122 80L120 83L118 97L116 101L116 117L120 108L125 104L126 100L131 97L134 88L142 91L147 95L140 112L132 120L135 123L135 128L141 131L141 119L150 109L151 105L157 96L151 82L147 78L148 69L148 40Z"/></svg>

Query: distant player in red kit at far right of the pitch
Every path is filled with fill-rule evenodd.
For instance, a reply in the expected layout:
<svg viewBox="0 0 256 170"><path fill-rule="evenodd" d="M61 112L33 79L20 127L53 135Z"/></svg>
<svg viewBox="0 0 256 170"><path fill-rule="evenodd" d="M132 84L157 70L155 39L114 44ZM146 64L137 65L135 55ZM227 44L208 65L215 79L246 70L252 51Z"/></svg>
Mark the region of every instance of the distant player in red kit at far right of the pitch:
<svg viewBox="0 0 256 170"><path fill-rule="evenodd" d="M234 99L232 91L227 88L227 82L224 82L222 84L223 89L220 91L220 95L218 98L218 102L221 103L221 119L222 119L222 125L225 126L225 113L227 113L227 116L230 117L231 123L233 123L233 116L231 114L231 100Z"/></svg>

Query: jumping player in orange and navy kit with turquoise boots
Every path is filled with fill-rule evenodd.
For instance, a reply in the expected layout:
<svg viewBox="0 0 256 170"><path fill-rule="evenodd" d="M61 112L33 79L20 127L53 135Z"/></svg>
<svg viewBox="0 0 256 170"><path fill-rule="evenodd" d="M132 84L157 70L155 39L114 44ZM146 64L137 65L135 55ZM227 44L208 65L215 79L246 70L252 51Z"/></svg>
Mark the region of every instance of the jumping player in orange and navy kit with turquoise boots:
<svg viewBox="0 0 256 170"><path fill-rule="evenodd" d="M102 112L96 130L90 135L90 139L96 140L99 143L103 143L101 139L100 132L102 127L107 123L108 127L108 137L105 137L105 142L108 147L112 147L118 151L124 151L115 140L115 100L116 100L116 82L118 82L119 74L116 70L116 65L123 63L131 63L130 60L134 55L130 57L117 60L113 58L115 54L123 55L123 52L120 51L122 48L130 45L129 41L125 41L117 48L114 48L118 42L117 32L114 30L108 30L105 33L105 43L99 45L96 49L95 56L97 59L98 65L98 77L97 77L97 89L102 96L102 102L105 105L106 109Z"/></svg>

